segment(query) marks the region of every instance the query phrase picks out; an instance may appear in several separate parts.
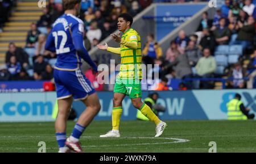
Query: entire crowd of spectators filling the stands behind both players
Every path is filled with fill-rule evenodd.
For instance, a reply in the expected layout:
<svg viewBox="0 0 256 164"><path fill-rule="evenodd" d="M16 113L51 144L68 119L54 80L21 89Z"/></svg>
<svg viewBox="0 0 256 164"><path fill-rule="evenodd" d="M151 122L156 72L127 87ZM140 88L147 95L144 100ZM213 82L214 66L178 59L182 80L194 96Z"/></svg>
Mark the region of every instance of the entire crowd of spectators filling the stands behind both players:
<svg viewBox="0 0 256 164"><path fill-rule="evenodd" d="M135 16L152 2L188 1L83 0L80 18L85 24L85 48L89 51L115 31L119 14L129 12ZM255 4L255 2L253 3ZM170 47L167 52L162 52L162 48L154 40L154 35L149 34L147 43L142 47L143 63L159 64L160 68L154 71L158 71L162 79L216 77L214 52L218 45L240 44L243 47L244 55L250 54L250 50L254 48L256 9L253 3L251 0L225 0L225 4L216 10L213 19L208 17L207 12L203 13L197 32L188 36L181 30L176 39L170 41ZM26 40L25 49L27 51L16 47L14 43L10 43L9 51L6 53L6 67L1 68L1 74L6 75L1 75L1 77L20 80L52 78L52 66L56 61L56 54L46 51L44 44L52 23L62 14L63 6L61 1L50 0L49 5L43 10L40 20L31 24L31 30L28 31ZM12 56L15 56L15 58L11 58ZM254 64L254 60L251 61L251 65ZM245 81L230 81L228 87L252 87L251 83L254 82L254 77L256 76L254 66L250 66L251 72L247 69L244 73L242 68L242 63L229 65L229 73L226 75L228 77L243 78L251 73L250 85ZM86 74L92 80L95 78L95 73L92 71L88 70ZM94 85L97 84L94 83ZM97 86L99 90L104 88L100 85ZM182 83L181 88L209 89L213 86L212 82L201 82L200 84L199 81L194 81Z"/></svg>

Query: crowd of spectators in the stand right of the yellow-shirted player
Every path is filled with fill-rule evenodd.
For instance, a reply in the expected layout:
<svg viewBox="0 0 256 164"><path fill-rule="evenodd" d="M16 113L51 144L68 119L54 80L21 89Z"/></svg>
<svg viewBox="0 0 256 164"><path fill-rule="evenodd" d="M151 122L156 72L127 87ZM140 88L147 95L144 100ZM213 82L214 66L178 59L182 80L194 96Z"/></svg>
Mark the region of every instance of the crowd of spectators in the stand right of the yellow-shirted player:
<svg viewBox="0 0 256 164"><path fill-rule="evenodd" d="M160 59L159 74L162 79L226 77L230 78L226 85L228 89L253 88L256 77L256 65L254 63L256 56L251 59L250 56L255 49L256 41L256 8L254 4L251 0L225 0L224 5L216 10L213 19L208 17L208 12L202 14L202 19L195 33L187 36L183 30L179 31L176 39L170 41L170 47L163 54L164 57L152 57L151 52L158 52L156 47L152 45L151 52L145 53L148 49L146 45L143 49L144 63L147 64L145 61L149 61L149 57L153 60L152 63ZM152 43L158 45L155 42ZM240 60L226 66L225 72L222 74L216 73L215 51L219 45L242 46ZM246 59L250 60L247 68L242 62ZM246 77L249 77L247 82ZM193 82L184 81L180 87L182 89L184 87L186 89L213 89L214 82L200 82L194 79Z"/></svg>

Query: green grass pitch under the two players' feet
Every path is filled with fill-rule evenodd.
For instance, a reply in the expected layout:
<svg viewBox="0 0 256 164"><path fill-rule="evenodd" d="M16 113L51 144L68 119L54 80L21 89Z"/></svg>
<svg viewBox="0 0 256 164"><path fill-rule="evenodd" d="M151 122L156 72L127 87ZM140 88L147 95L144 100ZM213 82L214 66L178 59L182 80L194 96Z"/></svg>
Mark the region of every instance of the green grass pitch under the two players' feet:
<svg viewBox="0 0 256 164"><path fill-rule="evenodd" d="M256 152L256 121L166 121L168 128L153 138L154 123L122 121L121 138L100 138L110 121L93 121L81 137L84 152L208 152L215 141L217 152ZM69 121L67 134L75 122ZM91 137L90 137L91 136ZM131 138L152 137L152 138ZM164 138L183 138L183 143ZM0 152L38 152L38 142L46 142L47 152L57 152L54 123L0 123ZM144 144L144 145L143 145Z"/></svg>

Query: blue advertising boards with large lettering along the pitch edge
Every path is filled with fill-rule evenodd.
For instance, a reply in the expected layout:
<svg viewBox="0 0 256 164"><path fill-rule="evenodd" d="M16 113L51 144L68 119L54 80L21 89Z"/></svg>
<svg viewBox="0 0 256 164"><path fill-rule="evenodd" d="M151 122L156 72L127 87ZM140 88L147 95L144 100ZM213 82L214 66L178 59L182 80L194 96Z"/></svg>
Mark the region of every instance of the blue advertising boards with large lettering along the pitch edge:
<svg viewBox="0 0 256 164"><path fill-rule="evenodd" d="M160 113L164 120L226 120L226 103L234 94L242 95L242 102L256 113L256 90L193 90L159 91L159 104L166 107ZM146 98L150 91L143 91ZM113 92L98 92L101 111L95 120L111 120ZM2 93L0 94L0 121L53 121L56 103L55 92ZM74 102L73 109L79 116L85 108L82 102ZM122 120L135 120L137 110L126 96L123 101Z"/></svg>

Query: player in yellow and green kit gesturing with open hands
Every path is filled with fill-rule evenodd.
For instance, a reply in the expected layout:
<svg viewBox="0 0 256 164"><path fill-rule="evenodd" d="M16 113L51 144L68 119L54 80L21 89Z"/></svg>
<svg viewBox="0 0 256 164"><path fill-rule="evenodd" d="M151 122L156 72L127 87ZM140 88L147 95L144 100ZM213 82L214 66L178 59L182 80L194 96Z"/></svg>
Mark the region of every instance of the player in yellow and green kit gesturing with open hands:
<svg viewBox="0 0 256 164"><path fill-rule="evenodd" d="M133 106L140 110L149 120L156 124L155 137L163 134L167 124L161 121L151 108L141 100L141 37L138 32L131 28L133 17L127 13L118 16L118 35L112 34L114 41L121 44L119 48L109 47L108 44L97 45L99 49L121 55L120 72L115 79L113 112L112 112L112 131L101 135L100 137L120 137L119 124L122 114L122 100L128 95ZM123 33L122 37L120 32Z"/></svg>

